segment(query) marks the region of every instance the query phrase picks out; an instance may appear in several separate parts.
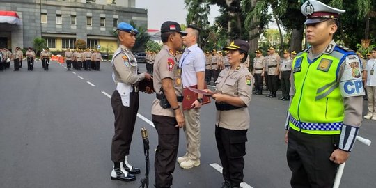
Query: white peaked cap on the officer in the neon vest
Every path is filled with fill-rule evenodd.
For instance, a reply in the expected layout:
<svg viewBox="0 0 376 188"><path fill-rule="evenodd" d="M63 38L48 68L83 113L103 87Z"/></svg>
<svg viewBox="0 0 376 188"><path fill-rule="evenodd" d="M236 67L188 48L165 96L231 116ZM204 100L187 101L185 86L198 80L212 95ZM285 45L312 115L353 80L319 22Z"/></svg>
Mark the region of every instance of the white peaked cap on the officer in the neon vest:
<svg viewBox="0 0 376 188"><path fill-rule="evenodd" d="M333 8L315 0L306 1L301 5L300 10L301 13L306 16L306 22L304 22L304 24L320 23L328 19L338 20L340 13L345 13L345 10Z"/></svg>

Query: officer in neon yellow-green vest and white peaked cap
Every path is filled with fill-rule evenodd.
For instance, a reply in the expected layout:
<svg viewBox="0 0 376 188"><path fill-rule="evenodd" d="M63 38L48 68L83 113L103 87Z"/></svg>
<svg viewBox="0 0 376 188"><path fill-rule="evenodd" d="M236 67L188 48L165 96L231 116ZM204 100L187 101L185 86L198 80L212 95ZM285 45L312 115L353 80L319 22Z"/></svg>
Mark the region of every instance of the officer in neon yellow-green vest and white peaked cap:
<svg viewBox="0 0 376 188"><path fill-rule="evenodd" d="M333 187L338 164L348 159L361 126L359 58L333 40L344 12L314 0L301 6L311 47L292 62L285 134L292 188Z"/></svg>

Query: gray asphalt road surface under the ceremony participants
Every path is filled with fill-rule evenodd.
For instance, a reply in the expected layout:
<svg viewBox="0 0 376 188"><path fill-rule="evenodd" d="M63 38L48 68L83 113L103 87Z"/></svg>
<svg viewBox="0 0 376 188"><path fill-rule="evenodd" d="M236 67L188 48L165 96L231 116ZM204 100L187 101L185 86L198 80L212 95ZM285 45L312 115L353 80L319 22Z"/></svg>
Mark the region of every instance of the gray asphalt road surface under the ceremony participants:
<svg viewBox="0 0 376 188"><path fill-rule="evenodd" d="M140 93L139 114L148 120L136 120L130 162L141 174L136 182L113 181L113 112L107 96L115 88L111 63L102 63L99 72L67 71L65 64L56 62L44 71L40 61L32 72L25 62L19 72L12 67L0 72L0 187L139 187L145 173L141 127L149 133L153 187L157 132L148 120L155 95ZM145 70L145 65L139 67ZM253 96L243 187L290 187L283 142L287 107L288 102ZM221 173L214 169L221 165L214 109L213 103L201 109L201 166L183 170L177 165L173 187L221 187ZM359 135L376 141L375 121L364 120ZM375 187L375 147L355 144L340 187ZM181 130L179 156L184 148Z"/></svg>

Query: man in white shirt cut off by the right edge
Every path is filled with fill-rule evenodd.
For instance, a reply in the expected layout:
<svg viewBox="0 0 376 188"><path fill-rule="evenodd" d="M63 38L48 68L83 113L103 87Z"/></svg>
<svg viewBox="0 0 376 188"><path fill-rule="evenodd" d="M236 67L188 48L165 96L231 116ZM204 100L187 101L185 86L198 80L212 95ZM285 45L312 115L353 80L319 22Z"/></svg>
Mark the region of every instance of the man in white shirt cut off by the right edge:
<svg viewBox="0 0 376 188"><path fill-rule="evenodd" d="M376 120L376 47L372 49L372 58L368 60L366 68L363 71L363 77L366 78L366 88L368 97L368 112L364 118Z"/></svg>

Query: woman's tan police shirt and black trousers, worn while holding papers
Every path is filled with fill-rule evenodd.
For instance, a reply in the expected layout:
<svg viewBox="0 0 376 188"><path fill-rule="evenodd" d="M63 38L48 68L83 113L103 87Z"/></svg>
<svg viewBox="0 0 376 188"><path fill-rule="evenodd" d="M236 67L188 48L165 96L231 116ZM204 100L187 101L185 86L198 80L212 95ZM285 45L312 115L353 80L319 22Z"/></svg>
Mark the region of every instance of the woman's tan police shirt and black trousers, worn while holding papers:
<svg viewBox="0 0 376 188"><path fill-rule="evenodd" d="M225 68L219 74L215 93L240 97L246 107L217 103L215 136L225 181L239 186L243 182L246 132L249 128L248 104L251 101L253 76L242 63L235 70Z"/></svg>

